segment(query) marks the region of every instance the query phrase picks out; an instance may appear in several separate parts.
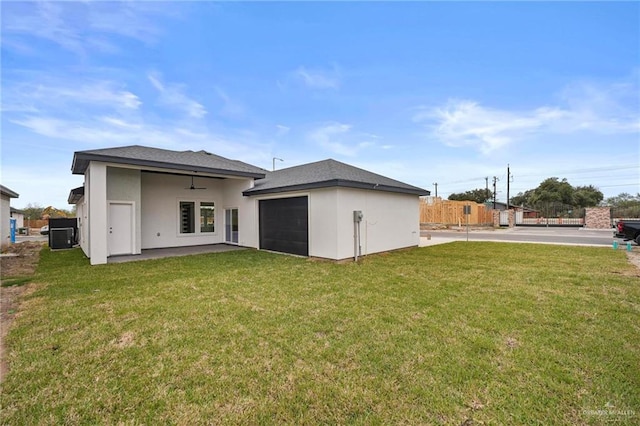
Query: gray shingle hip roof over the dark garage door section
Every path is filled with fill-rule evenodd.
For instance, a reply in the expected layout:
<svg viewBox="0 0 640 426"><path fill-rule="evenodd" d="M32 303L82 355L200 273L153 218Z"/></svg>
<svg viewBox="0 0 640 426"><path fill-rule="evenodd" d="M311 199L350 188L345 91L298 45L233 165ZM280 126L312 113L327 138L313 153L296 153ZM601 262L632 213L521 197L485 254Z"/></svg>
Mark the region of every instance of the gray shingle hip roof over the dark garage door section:
<svg viewBox="0 0 640 426"><path fill-rule="evenodd" d="M329 159L269 172L266 178L256 181L255 186L243 194L260 195L335 186L414 195L430 193L417 186Z"/></svg>

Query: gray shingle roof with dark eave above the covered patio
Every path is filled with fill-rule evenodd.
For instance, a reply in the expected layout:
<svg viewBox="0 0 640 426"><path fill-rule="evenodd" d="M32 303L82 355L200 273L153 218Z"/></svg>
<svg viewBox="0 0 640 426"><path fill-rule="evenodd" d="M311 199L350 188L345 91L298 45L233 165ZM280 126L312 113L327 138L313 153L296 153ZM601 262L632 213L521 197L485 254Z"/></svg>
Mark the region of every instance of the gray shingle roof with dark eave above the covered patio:
<svg viewBox="0 0 640 426"><path fill-rule="evenodd" d="M253 178L263 178L266 173L266 170L251 164L206 151L171 151L140 145L76 151L73 154L72 173L84 174L90 161Z"/></svg>

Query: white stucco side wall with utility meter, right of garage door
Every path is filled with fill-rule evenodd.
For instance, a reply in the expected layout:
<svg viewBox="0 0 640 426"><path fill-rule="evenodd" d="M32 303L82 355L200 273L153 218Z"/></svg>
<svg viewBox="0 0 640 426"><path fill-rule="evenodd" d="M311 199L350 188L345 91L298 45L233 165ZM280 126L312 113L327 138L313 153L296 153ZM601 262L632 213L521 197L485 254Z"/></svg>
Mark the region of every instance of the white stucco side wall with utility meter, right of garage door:
<svg viewBox="0 0 640 426"><path fill-rule="evenodd" d="M417 246L420 205L417 195L338 188L336 259L354 255L353 211L361 210L362 255Z"/></svg>

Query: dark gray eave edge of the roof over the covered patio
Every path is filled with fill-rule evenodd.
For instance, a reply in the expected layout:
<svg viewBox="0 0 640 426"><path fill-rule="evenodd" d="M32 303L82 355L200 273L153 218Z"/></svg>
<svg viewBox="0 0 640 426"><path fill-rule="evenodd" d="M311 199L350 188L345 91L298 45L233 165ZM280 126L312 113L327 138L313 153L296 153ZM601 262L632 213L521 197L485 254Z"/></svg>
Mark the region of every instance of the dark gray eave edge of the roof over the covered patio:
<svg viewBox="0 0 640 426"><path fill-rule="evenodd" d="M129 164L133 166L142 166L142 167L156 167L156 168L170 169L170 170L184 170L189 172L203 172L203 173L212 173L212 174L219 174L219 175L226 175L226 176L247 177L247 178L254 178L254 179L262 179L265 177L264 173L245 172L241 170L215 169L211 167L203 167L203 166L196 166L196 165L167 163L162 161L142 160L137 158L114 157L110 155L101 155L101 154L86 154L81 152L76 152L73 156L73 165L71 168L72 173L75 175L84 174L87 171L89 162L91 161L100 161L104 163L116 163L116 164Z"/></svg>

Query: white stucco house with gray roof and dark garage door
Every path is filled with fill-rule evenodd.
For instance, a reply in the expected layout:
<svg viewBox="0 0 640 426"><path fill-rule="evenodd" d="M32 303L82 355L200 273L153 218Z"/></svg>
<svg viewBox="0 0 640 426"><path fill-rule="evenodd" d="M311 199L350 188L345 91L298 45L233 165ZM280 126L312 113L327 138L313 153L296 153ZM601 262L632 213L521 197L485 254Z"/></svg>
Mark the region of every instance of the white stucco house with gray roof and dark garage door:
<svg viewBox="0 0 640 426"><path fill-rule="evenodd" d="M143 146L75 152L72 173L84 175L69 203L94 265L220 243L334 260L417 246L419 196L429 193L335 160L269 172Z"/></svg>

